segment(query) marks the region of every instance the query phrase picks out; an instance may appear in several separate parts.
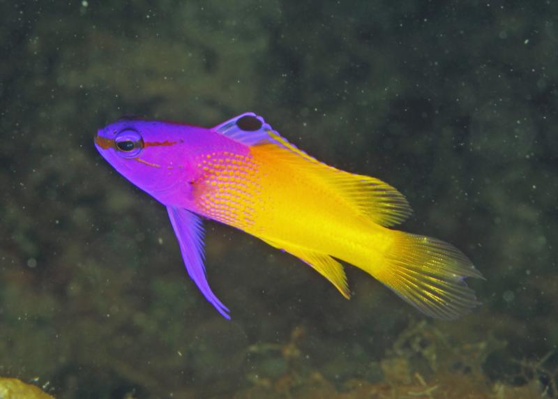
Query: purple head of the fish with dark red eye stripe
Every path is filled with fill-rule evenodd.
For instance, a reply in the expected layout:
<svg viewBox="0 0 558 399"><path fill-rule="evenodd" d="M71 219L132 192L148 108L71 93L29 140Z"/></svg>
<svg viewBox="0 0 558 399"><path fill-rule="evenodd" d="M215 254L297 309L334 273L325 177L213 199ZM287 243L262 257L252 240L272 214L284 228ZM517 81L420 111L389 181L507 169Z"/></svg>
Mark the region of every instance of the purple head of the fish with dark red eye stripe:
<svg viewBox="0 0 558 399"><path fill-rule="evenodd" d="M179 123L121 120L98 130L95 146L135 186L165 205L186 205L199 144L209 130Z"/></svg>

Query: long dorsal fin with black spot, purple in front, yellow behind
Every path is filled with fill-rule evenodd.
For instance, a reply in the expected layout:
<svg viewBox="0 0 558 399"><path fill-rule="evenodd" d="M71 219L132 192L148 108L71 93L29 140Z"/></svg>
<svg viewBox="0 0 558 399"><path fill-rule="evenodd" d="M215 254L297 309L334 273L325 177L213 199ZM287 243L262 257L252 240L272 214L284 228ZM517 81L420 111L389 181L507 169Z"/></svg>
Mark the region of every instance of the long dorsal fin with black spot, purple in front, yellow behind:
<svg viewBox="0 0 558 399"><path fill-rule="evenodd" d="M235 116L213 130L247 146L265 146L266 151L282 160L296 163L299 170L311 172L319 181L331 185L335 193L374 223L389 227L402 223L411 214L407 199L389 184L319 162L289 143L253 112Z"/></svg>

